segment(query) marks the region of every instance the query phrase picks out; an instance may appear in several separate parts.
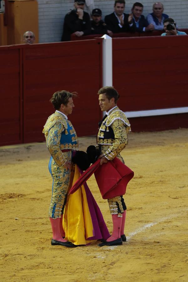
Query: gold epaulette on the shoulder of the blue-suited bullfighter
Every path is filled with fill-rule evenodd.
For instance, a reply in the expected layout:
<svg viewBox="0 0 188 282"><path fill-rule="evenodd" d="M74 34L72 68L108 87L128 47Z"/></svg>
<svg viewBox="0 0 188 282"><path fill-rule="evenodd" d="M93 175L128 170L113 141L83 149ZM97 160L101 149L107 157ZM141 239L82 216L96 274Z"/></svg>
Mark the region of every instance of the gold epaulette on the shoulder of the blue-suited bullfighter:
<svg viewBox="0 0 188 282"><path fill-rule="evenodd" d="M55 112L47 119L44 125L44 129L42 132L45 134L45 136L48 136L48 132L50 128L52 128L55 125L55 123L61 123L66 131L68 126L65 118L63 117L63 115Z"/></svg>

